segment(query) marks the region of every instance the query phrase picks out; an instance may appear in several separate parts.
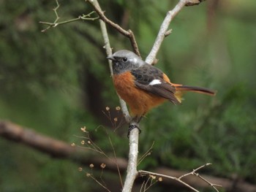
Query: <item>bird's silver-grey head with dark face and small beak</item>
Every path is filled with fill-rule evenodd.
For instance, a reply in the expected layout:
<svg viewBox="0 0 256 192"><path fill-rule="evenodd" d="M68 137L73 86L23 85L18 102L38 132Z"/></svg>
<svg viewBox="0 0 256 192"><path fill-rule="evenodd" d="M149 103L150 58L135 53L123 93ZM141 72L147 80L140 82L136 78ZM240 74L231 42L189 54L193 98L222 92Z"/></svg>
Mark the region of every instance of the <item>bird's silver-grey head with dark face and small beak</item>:
<svg viewBox="0 0 256 192"><path fill-rule="evenodd" d="M129 50L118 50L113 55L110 55L108 59L113 62L114 74L121 74L146 64L138 55Z"/></svg>

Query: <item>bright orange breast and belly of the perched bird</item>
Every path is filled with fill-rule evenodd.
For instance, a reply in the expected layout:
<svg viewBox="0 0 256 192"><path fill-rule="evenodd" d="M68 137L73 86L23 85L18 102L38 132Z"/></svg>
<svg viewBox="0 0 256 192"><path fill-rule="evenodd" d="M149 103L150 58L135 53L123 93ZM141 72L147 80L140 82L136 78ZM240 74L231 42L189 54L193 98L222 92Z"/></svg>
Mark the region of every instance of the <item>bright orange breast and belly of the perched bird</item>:
<svg viewBox="0 0 256 192"><path fill-rule="evenodd" d="M133 116L145 115L152 107L166 101L162 97L135 87L135 77L130 72L113 75L113 83L119 96L129 105Z"/></svg>

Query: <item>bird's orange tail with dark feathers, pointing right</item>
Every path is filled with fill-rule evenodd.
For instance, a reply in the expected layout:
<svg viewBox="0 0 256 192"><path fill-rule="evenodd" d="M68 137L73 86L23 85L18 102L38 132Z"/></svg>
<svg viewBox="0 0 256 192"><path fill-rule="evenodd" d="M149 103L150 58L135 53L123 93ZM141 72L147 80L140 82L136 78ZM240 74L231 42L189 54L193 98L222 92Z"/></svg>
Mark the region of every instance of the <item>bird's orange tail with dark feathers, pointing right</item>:
<svg viewBox="0 0 256 192"><path fill-rule="evenodd" d="M182 96L182 92L183 91L192 91L192 92L196 92L196 93L202 93L202 94L206 94L209 96L215 96L216 95L216 91L213 91L211 89L208 88L200 88L200 87L196 87L196 86L189 86L189 85L179 85L179 84L173 84L176 88L176 99L178 99L178 101L181 103L181 96Z"/></svg>

